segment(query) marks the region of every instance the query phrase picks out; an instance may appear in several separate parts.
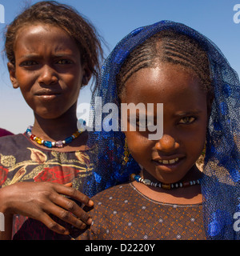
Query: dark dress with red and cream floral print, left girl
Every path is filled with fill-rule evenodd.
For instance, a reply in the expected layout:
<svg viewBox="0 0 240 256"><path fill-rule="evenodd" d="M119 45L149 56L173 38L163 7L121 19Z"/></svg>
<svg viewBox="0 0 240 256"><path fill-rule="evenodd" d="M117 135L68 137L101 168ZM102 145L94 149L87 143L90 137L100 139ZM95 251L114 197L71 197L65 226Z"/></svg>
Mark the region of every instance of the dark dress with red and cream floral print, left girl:
<svg viewBox="0 0 240 256"><path fill-rule="evenodd" d="M79 181L86 178L90 170L87 151L45 150L36 146L26 134L0 138L0 189L17 182L73 182L74 187L82 191ZM14 215L13 237L66 239L66 236L48 230L41 222L18 214Z"/></svg>

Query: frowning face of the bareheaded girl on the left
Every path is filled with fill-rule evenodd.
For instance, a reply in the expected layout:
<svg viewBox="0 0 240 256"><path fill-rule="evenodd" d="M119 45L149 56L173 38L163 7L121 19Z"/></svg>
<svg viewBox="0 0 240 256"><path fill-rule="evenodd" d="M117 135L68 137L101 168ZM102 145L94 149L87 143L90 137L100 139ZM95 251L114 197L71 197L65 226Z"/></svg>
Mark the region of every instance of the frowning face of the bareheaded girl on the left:
<svg viewBox="0 0 240 256"><path fill-rule="evenodd" d="M78 100L87 83L86 68L74 40L56 26L37 24L18 30L15 66L8 63L14 88L42 118L58 118Z"/></svg>

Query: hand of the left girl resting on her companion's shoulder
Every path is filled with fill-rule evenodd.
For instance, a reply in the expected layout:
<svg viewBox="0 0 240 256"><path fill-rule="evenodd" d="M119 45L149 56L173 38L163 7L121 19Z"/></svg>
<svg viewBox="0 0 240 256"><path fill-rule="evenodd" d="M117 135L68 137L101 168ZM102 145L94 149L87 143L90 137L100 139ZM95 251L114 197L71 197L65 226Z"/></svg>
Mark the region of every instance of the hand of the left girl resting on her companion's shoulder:
<svg viewBox="0 0 240 256"><path fill-rule="evenodd" d="M54 222L49 214L54 214L78 229L90 225L90 215L63 195L86 206L94 205L90 198L75 190L70 183L63 186L52 182L18 182L0 189L0 212L6 216L22 214L34 218L58 234L69 234L69 230Z"/></svg>

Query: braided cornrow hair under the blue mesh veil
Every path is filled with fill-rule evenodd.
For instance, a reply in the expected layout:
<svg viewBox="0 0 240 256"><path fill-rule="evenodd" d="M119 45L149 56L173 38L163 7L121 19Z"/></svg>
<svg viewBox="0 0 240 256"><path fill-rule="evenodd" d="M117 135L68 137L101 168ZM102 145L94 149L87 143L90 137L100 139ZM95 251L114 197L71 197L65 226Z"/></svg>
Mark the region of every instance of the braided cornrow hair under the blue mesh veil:
<svg viewBox="0 0 240 256"><path fill-rule="evenodd" d="M213 88L210 79L210 64L206 51L192 38L174 30L162 30L136 47L123 62L117 74L118 97L125 92L126 81L138 70L157 66L159 62L172 63L197 76L202 90L212 101Z"/></svg>

